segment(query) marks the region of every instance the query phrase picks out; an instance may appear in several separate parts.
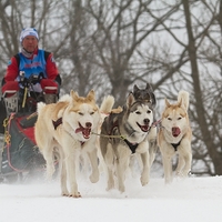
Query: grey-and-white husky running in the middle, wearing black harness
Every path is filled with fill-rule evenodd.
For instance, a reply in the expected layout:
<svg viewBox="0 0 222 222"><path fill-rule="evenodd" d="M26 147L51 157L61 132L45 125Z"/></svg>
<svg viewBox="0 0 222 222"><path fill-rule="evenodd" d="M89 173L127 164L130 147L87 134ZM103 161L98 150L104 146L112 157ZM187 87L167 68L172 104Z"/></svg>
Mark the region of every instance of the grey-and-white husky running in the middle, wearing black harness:
<svg viewBox="0 0 222 222"><path fill-rule="evenodd" d="M137 101L133 93L129 93L125 105L120 113L111 113L101 127L100 149L105 163L108 175L107 190L115 188L125 191L124 179L132 154L139 153L142 160L141 184L149 182L150 161L148 134L153 123L152 104Z"/></svg>

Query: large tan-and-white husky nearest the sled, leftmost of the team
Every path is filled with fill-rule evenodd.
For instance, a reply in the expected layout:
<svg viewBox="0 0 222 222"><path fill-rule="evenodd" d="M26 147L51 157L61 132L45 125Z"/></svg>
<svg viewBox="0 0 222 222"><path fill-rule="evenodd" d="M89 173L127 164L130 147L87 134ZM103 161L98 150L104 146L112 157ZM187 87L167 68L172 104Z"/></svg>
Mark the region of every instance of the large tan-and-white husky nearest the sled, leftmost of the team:
<svg viewBox="0 0 222 222"><path fill-rule="evenodd" d="M103 111L109 112L111 100L103 101ZM112 103L112 101L111 101ZM57 103L38 103L38 120L34 135L47 163L47 175L54 173L54 155L59 154L61 167L61 194L81 198L78 190L75 171L80 154L87 153L91 163L90 181L99 181L97 132L100 124L100 110L95 103L94 91L85 98L77 92L63 95ZM94 134L92 133L94 132ZM69 181L70 191L67 182Z"/></svg>

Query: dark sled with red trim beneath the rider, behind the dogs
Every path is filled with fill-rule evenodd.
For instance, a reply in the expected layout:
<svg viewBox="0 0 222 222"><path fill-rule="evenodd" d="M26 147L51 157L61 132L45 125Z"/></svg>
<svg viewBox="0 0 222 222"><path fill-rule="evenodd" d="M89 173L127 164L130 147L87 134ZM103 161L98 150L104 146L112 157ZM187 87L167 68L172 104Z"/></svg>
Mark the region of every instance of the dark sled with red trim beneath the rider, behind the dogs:
<svg viewBox="0 0 222 222"><path fill-rule="evenodd" d="M29 179L41 179L44 174L46 161L34 140L37 102L44 102L44 97L43 93L30 92L32 80L33 77L31 81L23 79L23 88L19 92L6 91L2 95L1 111L6 119L2 122L0 182L23 182Z"/></svg>

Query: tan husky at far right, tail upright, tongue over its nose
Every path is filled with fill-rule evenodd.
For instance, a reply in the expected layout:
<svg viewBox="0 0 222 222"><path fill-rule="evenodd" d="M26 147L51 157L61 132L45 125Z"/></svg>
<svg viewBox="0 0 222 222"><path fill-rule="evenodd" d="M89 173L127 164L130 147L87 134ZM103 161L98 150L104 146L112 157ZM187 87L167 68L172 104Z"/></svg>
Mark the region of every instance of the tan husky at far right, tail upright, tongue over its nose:
<svg viewBox="0 0 222 222"><path fill-rule="evenodd" d="M165 183L170 183L173 180L172 159L175 154L178 154L175 175L186 176L191 171L192 130L188 109L189 93L186 91L179 92L176 103L171 104L165 99L161 128L158 133L158 144L162 155Z"/></svg>

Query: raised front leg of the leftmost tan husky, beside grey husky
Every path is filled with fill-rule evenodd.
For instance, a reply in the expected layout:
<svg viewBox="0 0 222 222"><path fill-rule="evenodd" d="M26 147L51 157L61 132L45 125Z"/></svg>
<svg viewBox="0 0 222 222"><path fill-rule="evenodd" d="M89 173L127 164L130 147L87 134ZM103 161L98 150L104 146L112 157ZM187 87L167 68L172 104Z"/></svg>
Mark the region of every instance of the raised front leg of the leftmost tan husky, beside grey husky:
<svg viewBox="0 0 222 222"><path fill-rule="evenodd" d="M97 183L99 181L99 168L98 168L98 155L97 149L93 149L92 152L88 152L88 157L90 159L92 173L90 175L90 181L92 183Z"/></svg>

